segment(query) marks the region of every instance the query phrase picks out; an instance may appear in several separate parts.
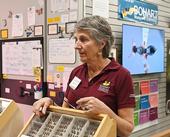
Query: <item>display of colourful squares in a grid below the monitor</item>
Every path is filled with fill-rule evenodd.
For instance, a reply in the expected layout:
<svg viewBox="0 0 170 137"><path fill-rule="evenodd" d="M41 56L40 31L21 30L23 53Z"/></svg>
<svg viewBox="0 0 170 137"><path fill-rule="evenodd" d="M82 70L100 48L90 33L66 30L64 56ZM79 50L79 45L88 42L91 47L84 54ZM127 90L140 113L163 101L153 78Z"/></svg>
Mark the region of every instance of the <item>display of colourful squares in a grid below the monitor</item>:
<svg viewBox="0 0 170 137"><path fill-rule="evenodd" d="M158 80L134 81L134 132L158 123Z"/></svg>

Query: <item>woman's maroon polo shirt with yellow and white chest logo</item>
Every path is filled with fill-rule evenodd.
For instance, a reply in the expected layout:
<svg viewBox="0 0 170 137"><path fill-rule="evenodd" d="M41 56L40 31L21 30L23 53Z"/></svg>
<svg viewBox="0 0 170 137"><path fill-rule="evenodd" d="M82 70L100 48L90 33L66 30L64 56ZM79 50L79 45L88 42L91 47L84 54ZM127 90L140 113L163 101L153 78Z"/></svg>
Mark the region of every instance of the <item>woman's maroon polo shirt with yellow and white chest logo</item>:
<svg viewBox="0 0 170 137"><path fill-rule="evenodd" d="M91 81L88 81L87 69L87 64L82 64L71 72L66 90L66 98L70 104L77 106L76 101L79 98L93 96L104 102L116 114L120 108L135 107L132 78L127 69L112 59ZM75 76L81 82L73 90L69 83Z"/></svg>

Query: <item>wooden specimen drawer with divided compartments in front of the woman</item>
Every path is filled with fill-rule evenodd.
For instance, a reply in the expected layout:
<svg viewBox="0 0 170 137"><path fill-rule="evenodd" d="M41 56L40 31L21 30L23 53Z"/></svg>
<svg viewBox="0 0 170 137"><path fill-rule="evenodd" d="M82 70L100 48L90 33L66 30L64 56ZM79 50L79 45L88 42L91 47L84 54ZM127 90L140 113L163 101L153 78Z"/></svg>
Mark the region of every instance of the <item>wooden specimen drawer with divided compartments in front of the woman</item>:
<svg viewBox="0 0 170 137"><path fill-rule="evenodd" d="M33 114L18 137L116 137L116 123L105 114L50 106L43 117Z"/></svg>

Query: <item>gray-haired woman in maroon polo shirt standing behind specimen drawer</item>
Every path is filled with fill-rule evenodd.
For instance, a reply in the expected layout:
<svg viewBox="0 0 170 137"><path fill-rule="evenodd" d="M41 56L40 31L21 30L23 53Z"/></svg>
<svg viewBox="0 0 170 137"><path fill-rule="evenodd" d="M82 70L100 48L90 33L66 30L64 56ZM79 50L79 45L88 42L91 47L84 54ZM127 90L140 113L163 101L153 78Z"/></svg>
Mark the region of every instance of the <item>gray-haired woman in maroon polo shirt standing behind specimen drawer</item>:
<svg viewBox="0 0 170 137"><path fill-rule="evenodd" d="M116 120L118 136L129 136L134 127L133 84L129 71L108 58L111 27L100 16L86 17L76 24L74 38L83 64L70 75L63 107L71 104L90 114L106 113ZM50 98L43 98L34 103L34 112L42 115L51 104Z"/></svg>

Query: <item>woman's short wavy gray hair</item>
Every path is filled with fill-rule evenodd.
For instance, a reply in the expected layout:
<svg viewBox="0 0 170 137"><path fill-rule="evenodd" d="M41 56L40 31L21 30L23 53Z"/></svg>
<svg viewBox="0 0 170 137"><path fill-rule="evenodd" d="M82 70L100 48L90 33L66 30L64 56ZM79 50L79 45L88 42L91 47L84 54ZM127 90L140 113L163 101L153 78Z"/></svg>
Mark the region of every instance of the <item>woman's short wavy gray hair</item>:
<svg viewBox="0 0 170 137"><path fill-rule="evenodd" d="M114 38L109 23L103 17L90 16L81 19L75 25L74 33L78 30L87 30L97 43L101 42L101 39L105 39L106 45L102 50L102 56L104 58L109 56Z"/></svg>

